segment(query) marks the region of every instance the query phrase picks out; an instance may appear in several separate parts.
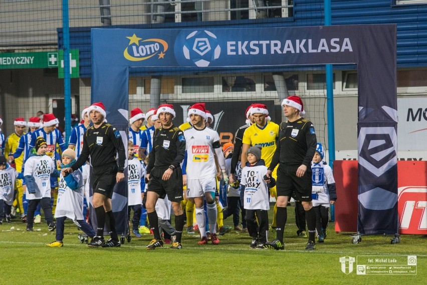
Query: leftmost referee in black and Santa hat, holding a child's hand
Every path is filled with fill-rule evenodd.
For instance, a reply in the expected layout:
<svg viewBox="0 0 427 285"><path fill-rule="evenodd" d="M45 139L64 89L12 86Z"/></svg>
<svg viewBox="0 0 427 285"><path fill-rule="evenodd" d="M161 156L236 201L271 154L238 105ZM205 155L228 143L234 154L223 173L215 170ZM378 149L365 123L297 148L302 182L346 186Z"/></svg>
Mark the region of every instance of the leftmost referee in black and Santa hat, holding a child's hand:
<svg viewBox="0 0 427 285"><path fill-rule="evenodd" d="M92 205L95 209L97 230L96 236L88 246L90 247L119 247L116 223L111 207L114 185L123 181L126 152L119 130L113 125L104 122L106 117L105 107L102 102L93 103L88 107L89 117L93 126L89 127L83 136L83 149L77 162L69 168L64 168L62 174L78 170L89 156L92 170ZM119 165L117 166L116 154L118 153ZM109 220L110 236L105 242L104 225L106 216Z"/></svg>

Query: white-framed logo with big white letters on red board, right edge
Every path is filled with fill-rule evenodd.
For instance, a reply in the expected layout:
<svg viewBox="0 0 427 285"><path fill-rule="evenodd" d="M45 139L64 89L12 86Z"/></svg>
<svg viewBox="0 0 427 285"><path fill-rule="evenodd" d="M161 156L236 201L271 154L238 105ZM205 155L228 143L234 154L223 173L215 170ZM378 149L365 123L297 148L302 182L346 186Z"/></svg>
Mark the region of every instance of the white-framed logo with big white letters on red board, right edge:
<svg viewBox="0 0 427 285"><path fill-rule="evenodd" d="M427 188L401 187L398 192L400 233L427 234Z"/></svg>

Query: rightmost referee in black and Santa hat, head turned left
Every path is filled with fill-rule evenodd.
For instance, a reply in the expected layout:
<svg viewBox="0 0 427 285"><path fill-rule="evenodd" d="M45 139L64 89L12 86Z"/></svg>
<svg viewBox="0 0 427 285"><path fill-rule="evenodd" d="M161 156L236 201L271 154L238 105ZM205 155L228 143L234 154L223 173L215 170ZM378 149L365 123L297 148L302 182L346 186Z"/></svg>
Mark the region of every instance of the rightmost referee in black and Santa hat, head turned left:
<svg viewBox="0 0 427 285"><path fill-rule="evenodd" d="M307 250L315 245L316 213L311 202L312 172L311 161L316 150L317 139L313 123L301 117L304 105L300 97L290 96L282 102L283 112L288 118L280 124L279 143L274 153L267 177L277 170L277 238L267 245L274 249L284 249L283 232L287 220L286 206L291 196L301 201L306 213L308 228Z"/></svg>

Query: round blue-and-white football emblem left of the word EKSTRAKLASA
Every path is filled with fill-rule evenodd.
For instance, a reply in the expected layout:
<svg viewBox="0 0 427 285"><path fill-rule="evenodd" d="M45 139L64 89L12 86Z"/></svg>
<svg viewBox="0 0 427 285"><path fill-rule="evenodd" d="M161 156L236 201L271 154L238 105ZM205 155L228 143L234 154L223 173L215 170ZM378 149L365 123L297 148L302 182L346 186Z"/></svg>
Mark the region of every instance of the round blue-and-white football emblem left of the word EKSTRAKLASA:
<svg viewBox="0 0 427 285"><path fill-rule="evenodd" d="M209 31L194 31L185 40L182 47L184 57L198 67L209 66L211 61L220 57L221 47L217 36Z"/></svg>

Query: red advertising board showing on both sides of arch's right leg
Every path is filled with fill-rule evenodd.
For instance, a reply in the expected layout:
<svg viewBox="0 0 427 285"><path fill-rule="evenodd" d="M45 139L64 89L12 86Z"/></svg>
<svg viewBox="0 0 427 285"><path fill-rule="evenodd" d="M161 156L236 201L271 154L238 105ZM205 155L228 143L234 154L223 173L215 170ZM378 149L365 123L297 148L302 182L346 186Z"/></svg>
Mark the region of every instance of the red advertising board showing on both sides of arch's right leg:
<svg viewBox="0 0 427 285"><path fill-rule="evenodd" d="M357 232L357 161L334 161L335 231ZM398 161L400 234L427 234L427 162Z"/></svg>

